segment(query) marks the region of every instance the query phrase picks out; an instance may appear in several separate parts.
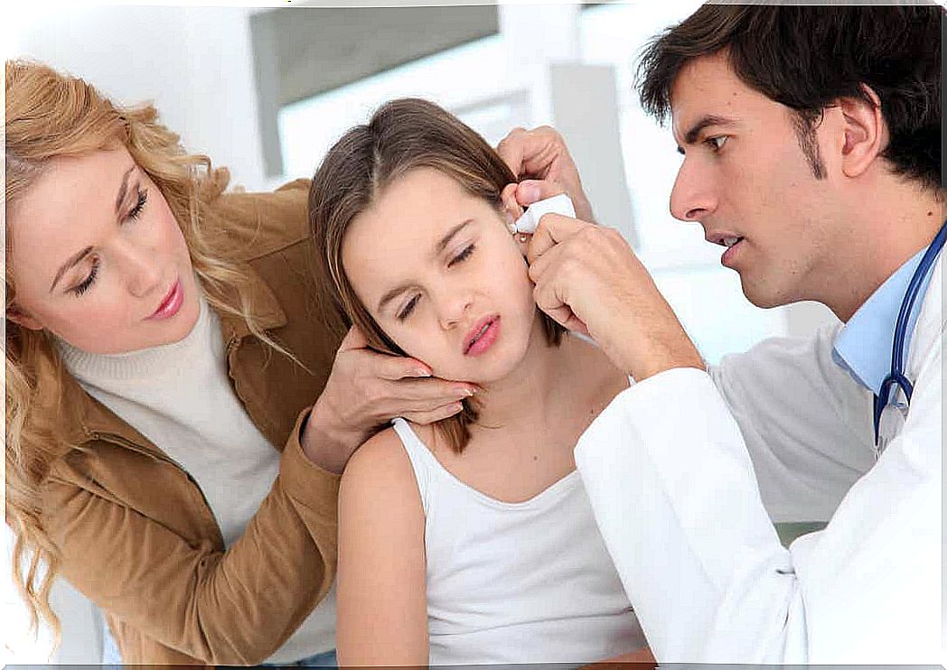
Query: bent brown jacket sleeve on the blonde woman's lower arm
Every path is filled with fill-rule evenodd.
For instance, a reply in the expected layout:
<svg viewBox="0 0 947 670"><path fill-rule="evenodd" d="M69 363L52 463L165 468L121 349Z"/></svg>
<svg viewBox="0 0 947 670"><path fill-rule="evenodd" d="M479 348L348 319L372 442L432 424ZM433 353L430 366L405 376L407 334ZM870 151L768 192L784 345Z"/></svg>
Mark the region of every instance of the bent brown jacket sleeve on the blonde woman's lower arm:
<svg viewBox="0 0 947 670"><path fill-rule="evenodd" d="M68 467L49 477L44 521L63 555L63 576L123 623L188 656L213 664L265 660L325 596L335 573L339 477L302 452L306 414L270 493L225 552L210 540L188 541Z"/></svg>

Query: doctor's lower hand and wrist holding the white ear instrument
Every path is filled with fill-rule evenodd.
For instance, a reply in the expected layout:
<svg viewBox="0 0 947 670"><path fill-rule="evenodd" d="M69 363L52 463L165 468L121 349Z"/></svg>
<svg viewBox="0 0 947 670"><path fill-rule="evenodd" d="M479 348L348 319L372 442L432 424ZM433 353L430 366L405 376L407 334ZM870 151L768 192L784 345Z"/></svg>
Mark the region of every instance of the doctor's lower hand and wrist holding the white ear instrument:
<svg viewBox="0 0 947 670"><path fill-rule="evenodd" d="M546 214L527 261L539 308L587 334L635 380L674 367L705 369L651 274L614 228Z"/></svg>

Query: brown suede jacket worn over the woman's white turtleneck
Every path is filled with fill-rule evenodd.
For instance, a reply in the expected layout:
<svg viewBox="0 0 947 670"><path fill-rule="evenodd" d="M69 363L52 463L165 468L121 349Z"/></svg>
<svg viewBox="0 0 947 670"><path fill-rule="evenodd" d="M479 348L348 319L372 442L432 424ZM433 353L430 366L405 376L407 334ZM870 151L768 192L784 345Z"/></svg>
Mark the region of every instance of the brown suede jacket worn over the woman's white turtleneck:
<svg viewBox="0 0 947 670"><path fill-rule="evenodd" d="M260 324L309 368L221 314L234 389L282 451L273 488L229 550L188 473L65 379L63 418L80 449L54 463L43 521L61 574L105 611L126 663L259 663L331 586L339 477L299 444L339 344L310 272L308 184L226 193L205 212L215 248L252 269Z"/></svg>

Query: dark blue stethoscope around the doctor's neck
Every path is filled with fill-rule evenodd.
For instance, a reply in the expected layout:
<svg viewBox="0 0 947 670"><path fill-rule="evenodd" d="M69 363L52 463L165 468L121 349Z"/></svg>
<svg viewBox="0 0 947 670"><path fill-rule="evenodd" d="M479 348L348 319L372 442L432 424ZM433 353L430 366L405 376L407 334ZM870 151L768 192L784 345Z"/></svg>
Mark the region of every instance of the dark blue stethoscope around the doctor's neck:
<svg viewBox="0 0 947 670"><path fill-rule="evenodd" d="M882 381L881 389L875 396L875 457L877 458L884 450L887 440L879 445L882 415L885 413L897 413L903 423L908 404L911 402L911 394L914 393L914 385L904 376L904 341L907 339L907 322L911 316L911 310L914 309L914 303L918 300L920 294L920 285L924 278L931 273L934 263L937 261L938 254L944 246L944 240L947 239L947 221L940 226L938 235L927 248L927 252L920 259L918 269L911 275L911 281L907 285L907 291L904 292L904 299L901 303L901 311L898 313L898 321L894 327L894 343L891 345L891 371ZM904 395L904 403L895 403L892 401L892 390L901 389ZM886 435L890 439L894 435Z"/></svg>

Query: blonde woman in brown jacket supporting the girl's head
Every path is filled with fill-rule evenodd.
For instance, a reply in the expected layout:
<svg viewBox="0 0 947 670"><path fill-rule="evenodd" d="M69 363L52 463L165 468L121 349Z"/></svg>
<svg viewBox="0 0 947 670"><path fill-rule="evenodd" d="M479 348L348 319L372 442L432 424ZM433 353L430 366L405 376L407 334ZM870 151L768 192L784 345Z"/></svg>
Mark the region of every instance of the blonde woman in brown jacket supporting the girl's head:
<svg viewBox="0 0 947 670"><path fill-rule="evenodd" d="M41 64L7 62L6 93L7 521L34 620L56 626L63 576L125 662L331 662L339 474L470 387L327 327L306 182L224 193L151 106Z"/></svg>

